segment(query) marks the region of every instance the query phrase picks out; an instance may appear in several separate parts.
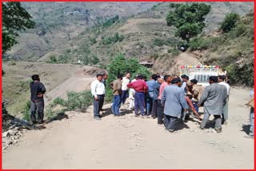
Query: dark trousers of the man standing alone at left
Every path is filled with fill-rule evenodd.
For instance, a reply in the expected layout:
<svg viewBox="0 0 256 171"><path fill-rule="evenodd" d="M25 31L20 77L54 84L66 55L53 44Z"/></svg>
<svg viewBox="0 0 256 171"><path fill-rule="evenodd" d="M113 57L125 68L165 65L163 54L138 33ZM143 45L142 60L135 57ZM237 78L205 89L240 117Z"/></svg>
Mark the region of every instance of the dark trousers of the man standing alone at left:
<svg viewBox="0 0 256 171"><path fill-rule="evenodd" d="M36 121L36 113L38 113L38 121L43 121L44 113L43 109L45 108L44 101L30 101L30 119L32 122Z"/></svg>

